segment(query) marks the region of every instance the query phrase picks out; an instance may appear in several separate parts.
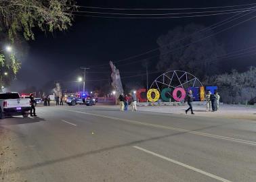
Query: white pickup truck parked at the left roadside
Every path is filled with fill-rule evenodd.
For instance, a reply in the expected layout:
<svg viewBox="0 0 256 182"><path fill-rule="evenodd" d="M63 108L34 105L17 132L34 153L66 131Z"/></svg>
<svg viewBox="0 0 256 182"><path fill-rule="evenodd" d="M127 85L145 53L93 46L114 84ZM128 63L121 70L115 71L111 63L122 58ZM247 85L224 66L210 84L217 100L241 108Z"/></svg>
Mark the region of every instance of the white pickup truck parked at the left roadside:
<svg viewBox="0 0 256 182"><path fill-rule="evenodd" d="M0 92L0 119L14 115L28 117L30 107L30 99L20 98L18 92Z"/></svg>

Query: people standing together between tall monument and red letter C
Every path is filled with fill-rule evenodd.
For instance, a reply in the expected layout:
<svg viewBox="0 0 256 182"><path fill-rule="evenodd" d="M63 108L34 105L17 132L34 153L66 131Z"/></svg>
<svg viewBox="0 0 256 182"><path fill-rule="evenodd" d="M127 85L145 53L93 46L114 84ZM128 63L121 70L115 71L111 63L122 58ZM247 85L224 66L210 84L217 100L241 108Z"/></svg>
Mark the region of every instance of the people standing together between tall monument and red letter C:
<svg viewBox="0 0 256 182"><path fill-rule="evenodd" d="M131 111L137 111L137 96L135 92L131 94L120 94L119 104L120 111L128 111L129 102L131 101Z"/></svg>

